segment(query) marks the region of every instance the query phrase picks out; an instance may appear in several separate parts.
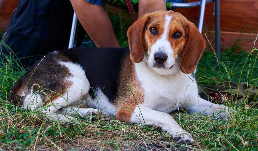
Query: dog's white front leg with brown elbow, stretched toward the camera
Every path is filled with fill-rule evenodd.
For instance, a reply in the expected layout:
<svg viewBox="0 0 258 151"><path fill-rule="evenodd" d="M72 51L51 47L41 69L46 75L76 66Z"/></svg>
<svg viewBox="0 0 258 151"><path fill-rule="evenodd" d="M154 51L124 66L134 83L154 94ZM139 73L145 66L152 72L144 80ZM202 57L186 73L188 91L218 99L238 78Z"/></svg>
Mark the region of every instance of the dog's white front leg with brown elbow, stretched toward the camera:
<svg viewBox="0 0 258 151"><path fill-rule="evenodd" d="M131 111L131 112L130 112ZM117 113L117 119L125 122L160 127L163 131L172 135L176 142L190 145L192 136L183 130L171 115L151 110L143 105L136 105L134 111L122 108Z"/></svg>

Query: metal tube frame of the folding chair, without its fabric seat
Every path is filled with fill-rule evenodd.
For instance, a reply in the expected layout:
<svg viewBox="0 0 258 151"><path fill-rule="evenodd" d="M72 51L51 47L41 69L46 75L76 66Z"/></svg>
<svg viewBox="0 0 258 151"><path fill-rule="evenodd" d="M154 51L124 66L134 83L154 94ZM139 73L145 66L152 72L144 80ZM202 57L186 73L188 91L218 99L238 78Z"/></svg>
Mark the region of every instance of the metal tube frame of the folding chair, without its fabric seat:
<svg viewBox="0 0 258 151"><path fill-rule="evenodd" d="M172 9L175 8L192 8L196 6L200 6L199 20L198 20L198 30L201 33L203 30L203 20L204 20L204 12L205 12L205 4L214 2L214 16L215 16L215 53L217 54L218 59L220 58L220 0L200 0L197 2L189 2L189 3L172 3ZM78 19L74 12L71 34L68 48L72 48L74 45L76 25ZM194 72L195 73L195 72Z"/></svg>

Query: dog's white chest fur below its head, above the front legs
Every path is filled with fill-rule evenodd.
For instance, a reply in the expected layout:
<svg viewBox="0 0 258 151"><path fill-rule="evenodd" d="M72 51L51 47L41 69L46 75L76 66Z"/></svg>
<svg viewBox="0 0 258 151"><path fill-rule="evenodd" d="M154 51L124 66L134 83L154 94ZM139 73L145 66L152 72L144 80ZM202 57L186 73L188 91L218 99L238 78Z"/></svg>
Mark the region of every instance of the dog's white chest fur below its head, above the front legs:
<svg viewBox="0 0 258 151"><path fill-rule="evenodd" d="M192 87L195 85L193 79L183 73L162 76L152 71L141 70L137 77L144 89L143 105L156 111L171 112L177 109L181 103L187 102L187 96L195 89Z"/></svg>

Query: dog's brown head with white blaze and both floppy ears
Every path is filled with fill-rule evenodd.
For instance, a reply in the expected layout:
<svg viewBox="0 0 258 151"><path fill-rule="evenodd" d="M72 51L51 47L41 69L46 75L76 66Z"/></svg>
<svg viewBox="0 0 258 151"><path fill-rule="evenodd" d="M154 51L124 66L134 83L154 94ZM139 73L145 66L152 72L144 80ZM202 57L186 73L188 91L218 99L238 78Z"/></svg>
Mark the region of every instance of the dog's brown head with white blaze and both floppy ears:
<svg viewBox="0 0 258 151"><path fill-rule="evenodd" d="M145 61L159 74L173 73L168 71L177 60L182 72L192 73L205 48L195 24L173 11L145 14L128 29L127 36L131 60Z"/></svg>

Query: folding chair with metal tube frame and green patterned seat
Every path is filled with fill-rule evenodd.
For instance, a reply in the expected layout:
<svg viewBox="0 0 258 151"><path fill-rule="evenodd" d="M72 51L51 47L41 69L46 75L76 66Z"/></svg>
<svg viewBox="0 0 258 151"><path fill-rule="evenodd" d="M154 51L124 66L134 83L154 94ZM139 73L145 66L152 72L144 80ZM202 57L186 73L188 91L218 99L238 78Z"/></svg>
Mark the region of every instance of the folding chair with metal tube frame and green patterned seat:
<svg viewBox="0 0 258 151"><path fill-rule="evenodd" d="M216 47L216 54L218 59L220 58L220 0L200 0L196 2L189 2L186 3L187 0L169 0L166 3L167 10L172 10L175 8L192 8L196 6L200 6L200 13L199 13L199 21L198 21L198 30L200 33L203 29L203 20L204 20L204 11L205 11L205 4L214 2L214 16L215 16L215 47ZM134 10L138 10L138 0L131 0L132 6ZM108 0L106 2L108 5L112 5L118 8L127 9L126 2L124 0ZM74 45L74 38L75 38L75 31L77 25L77 17L74 13L74 17L72 20L72 28L71 28L71 35L69 40L68 48L72 48Z"/></svg>

